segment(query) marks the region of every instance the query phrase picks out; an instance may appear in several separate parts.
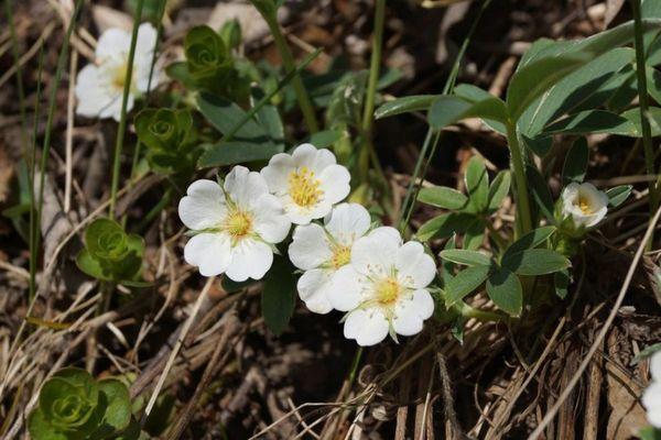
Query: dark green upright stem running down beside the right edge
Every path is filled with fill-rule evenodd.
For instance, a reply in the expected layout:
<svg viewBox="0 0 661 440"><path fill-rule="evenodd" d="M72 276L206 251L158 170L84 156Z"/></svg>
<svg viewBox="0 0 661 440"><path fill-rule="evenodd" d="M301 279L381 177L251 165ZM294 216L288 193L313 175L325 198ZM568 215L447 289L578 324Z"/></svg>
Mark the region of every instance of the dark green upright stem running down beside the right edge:
<svg viewBox="0 0 661 440"><path fill-rule="evenodd" d="M642 129L642 146L644 150L644 163L647 174L653 176L654 173L654 150L652 147L652 130L650 128L649 102L647 91L647 73L644 64L644 46L642 43L642 19L640 16L640 0L631 0L631 11L633 12L633 43L636 46L636 74L638 76L638 99L640 102L640 127ZM657 183L649 182L650 190L650 220L652 213L659 206L659 196L657 194ZM652 239L647 243L648 250L651 249Z"/></svg>

